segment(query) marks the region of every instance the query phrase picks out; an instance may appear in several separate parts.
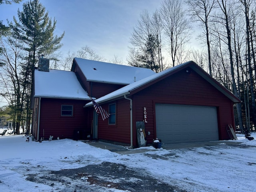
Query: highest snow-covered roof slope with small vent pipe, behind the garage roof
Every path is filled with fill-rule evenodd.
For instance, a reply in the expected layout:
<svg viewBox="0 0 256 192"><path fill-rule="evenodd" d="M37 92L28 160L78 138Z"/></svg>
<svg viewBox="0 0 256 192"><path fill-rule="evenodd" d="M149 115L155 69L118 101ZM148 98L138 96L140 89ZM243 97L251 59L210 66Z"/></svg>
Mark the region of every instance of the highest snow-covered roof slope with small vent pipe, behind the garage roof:
<svg viewBox="0 0 256 192"><path fill-rule="evenodd" d="M113 63L106 63L82 58L74 58L72 71L75 65L78 65L82 70L87 81L92 82L107 82L113 84L131 84L142 80L152 74L154 71L147 68L132 67Z"/></svg>

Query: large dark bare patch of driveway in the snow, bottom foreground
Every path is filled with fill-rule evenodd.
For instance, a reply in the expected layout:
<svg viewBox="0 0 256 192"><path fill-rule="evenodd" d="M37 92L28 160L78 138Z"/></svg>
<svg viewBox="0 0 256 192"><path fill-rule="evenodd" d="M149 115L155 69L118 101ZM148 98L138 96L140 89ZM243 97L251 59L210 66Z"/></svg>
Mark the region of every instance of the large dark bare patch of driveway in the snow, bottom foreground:
<svg viewBox="0 0 256 192"><path fill-rule="evenodd" d="M26 180L62 186L61 192L102 192L106 188L127 192L186 192L172 183L159 181L145 170L111 162L45 172L42 176L29 175Z"/></svg>

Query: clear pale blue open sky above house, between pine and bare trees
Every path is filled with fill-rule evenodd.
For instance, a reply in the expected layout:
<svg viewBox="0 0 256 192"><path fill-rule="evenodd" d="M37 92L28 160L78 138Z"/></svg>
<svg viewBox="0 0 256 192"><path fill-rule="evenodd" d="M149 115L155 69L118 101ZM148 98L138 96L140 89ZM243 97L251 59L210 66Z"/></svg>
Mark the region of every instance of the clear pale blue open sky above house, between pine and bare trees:
<svg viewBox="0 0 256 192"><path fill-rule="evenodd" d="M0 5L0 20L7 24L18 18L20 4ZM56 35L65 32L62 55L89 46L96 54L111 60L116 55L126 61L129 39L140 13L152 14L161 0L40 0L52 20L55 18Z"/></svg>

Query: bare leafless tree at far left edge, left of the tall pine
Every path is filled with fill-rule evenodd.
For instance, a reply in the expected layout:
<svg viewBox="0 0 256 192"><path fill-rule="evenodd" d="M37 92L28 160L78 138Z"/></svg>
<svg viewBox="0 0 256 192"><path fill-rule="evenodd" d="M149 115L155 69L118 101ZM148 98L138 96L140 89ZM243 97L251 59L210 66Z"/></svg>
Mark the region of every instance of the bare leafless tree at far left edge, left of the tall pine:
<svg viewBox="0 0 256 192"><path fill-rule="evenodd" d="M16 133L19 133L19 122L22 121L24 107L24 86L21 80L22 68L20 65L22 49L20 42L11 34L0 38L0 47L2 48L0 62L4 63L0 69L1 96L8 101L8 105L12 109L14 127L16 126L15 122L18 123Z"/></svg>

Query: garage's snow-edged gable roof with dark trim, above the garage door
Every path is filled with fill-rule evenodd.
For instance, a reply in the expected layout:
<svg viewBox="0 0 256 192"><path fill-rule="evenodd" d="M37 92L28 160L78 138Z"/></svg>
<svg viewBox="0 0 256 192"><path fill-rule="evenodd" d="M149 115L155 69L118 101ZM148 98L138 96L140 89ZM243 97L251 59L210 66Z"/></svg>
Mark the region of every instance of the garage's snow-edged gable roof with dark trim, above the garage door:
<svg viewBox="0 0 256 192"><path fill-rule="evenodd" d="M222 85L220 85L216 80L214 80L210 75L208 75L206 72L204 72L204 70L202 70L196 63L194 63L193 61L189 61L189 62L185 62L182 64L179 64L177 66L174 66L172 68L169 68L167 70L164 70L162 72L153 74L149 77L146 77L140 81L134 82L132 84L129 84L127 86L124 86L123 88L120 88L110 94L107 94L105 96L102 96L101 98L96 99L95 101L97 103L100 102L106 102L108 100L112 100L115 98L120 98L123 97L124 95L128 95L130 94L130 92L132 92L133 90L136 90L137 88L140 88L142 86L145 86L146 84L157 80L159 78L161 78L162 76L169 74L171 72L174 71L178 71L180 68L186 68L186 67L191 67L193 70L195 70L200 76L202 76L205 80L207 80L208 82L210 82L210 84L212 84L215 88L217 88L220 92L222 92L224 95L226 95L230 100L232 100L235 103L240 102L240 100L238 98L236 98L236 96L234 96L229 90L227 90L226 88L224 88ZM84 107L87 106L91 106L92 102L87 103Z"/></svg>

